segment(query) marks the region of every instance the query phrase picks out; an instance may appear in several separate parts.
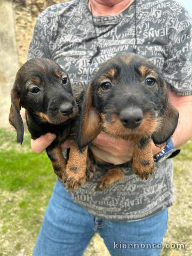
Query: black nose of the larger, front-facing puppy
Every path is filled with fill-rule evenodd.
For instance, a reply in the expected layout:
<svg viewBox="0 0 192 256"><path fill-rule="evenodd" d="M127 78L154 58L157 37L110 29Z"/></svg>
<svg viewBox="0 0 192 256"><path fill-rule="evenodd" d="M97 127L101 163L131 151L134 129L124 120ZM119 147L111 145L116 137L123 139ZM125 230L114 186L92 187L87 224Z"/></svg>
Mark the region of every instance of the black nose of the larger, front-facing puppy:
<svg viewBox="0 0 192 256"><path fill-rule="evenodd" d="M143 111L139 107L125 108L120 112L119 119L123 126L134 129L142 122Z"/></svg>

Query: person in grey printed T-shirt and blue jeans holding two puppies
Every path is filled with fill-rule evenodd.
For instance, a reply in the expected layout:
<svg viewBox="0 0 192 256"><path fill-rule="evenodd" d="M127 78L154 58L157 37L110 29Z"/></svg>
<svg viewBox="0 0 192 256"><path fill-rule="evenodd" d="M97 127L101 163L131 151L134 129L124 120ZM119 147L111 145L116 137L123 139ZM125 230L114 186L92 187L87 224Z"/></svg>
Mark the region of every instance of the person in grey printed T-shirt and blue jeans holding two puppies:
<svg viewBox="0 0 192 256"><path fill-rule="evenodd" d="M151 142L156 163L147 180L131 170L133 141L101 132L91 151L103 162L122 165L124 179L106 190L95 190L105 173L105 167L99 167L78 190L67 190L57 181L35 256L83 255L96 231L111 255L160 255L167 207L173 203L173 165L168 153L192 136L191 23L174 0L75 0L52 5L39 15L28 59L57 62L69 75L75 95L86 90L103 62L117 54L137 53L161 70L179 122L166 145L156 147ZM52 133L45 134L32 140L31 147L41 153L54 138ZM66 142L63 148L67 147Z"/></svg>

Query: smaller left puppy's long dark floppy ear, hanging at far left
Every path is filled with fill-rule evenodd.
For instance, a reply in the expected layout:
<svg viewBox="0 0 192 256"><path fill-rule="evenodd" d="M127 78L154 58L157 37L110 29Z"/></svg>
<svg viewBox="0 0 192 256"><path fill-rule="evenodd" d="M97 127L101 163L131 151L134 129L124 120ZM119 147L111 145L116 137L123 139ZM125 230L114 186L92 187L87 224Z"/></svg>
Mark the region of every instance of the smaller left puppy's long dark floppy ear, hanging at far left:
<svg viewBox="0 0 192 256"><path fill-rule="evenodd" d="M24 127L22 118L20 115L21 110L21 102L19 98L19 92L17 89L13 88L11 90L11 108L9 114L9 122L15 130L17 131L17 142L22 144L23 142L23 134L24 134Z"/></svg>

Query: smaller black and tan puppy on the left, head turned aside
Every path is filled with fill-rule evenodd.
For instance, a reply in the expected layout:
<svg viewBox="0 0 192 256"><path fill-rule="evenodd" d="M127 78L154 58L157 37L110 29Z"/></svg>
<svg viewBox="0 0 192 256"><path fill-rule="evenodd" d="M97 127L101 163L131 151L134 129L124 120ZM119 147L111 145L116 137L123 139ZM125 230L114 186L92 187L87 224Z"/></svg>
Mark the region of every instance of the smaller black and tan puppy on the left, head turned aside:
<svg viewBox="0 0 192 256"><path fill-rule="evenodd" d="M51 132L57 138L47 147L54 172L67 188L77 189L85 183L86 149L81 153L74 141L70 145L68 163L62 155L61 143L70 134L78 114L68 75L52 60L37 58L27 61L17 73L11 90L10 123L17 130L17 142L23 141L20 109L26 109L31 138ZM66 166L67 164L67 166Z"/></svg>

